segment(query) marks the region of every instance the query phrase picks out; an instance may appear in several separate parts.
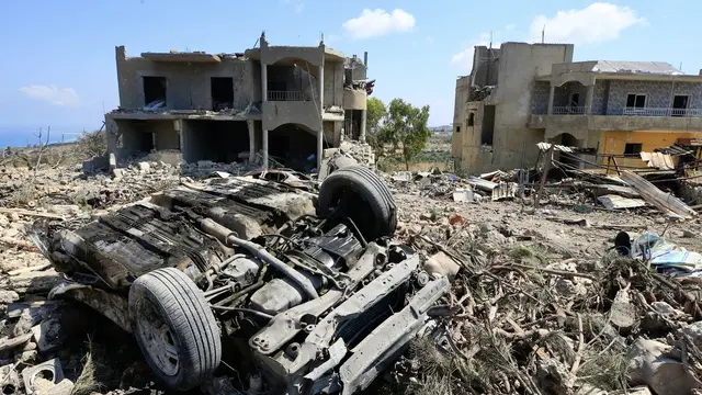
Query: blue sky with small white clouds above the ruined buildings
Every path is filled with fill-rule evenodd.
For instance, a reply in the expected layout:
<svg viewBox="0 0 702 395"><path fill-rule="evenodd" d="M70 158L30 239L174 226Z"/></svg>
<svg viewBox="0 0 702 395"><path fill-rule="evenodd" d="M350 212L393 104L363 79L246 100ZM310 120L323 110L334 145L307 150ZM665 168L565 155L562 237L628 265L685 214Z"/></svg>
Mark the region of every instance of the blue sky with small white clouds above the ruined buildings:
<svg viewBox="0 0 702 395"><path fill-rule="evenodd" d="M2 0L0 147L101 126L118 105L114 47L244 52L262 31L271 45L325 43L369 53L373 95L430 105L430 126L453 119L455 79L473 46L575 44L575 60L656 60L702 68L700 0ZM545 27L545 29L544 29Z"/></svg>

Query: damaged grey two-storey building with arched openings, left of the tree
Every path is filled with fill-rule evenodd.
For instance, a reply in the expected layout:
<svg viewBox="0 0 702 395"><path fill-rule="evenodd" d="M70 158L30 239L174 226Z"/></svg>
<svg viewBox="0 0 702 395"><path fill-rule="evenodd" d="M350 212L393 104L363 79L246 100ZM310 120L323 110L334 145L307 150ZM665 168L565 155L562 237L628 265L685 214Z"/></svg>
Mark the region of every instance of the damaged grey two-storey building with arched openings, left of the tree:
<svg viewBox="0 0 702 395"><path fill-rule="evenodd" d="M120 108L105 115L110 161L159 153L167 162L275 160L310 170L322 150L365 137L367 54L324 44L273 46L262 34L238 54L116 47ZM369 89L370 88L370 89Z"/></svg>

